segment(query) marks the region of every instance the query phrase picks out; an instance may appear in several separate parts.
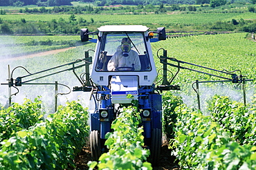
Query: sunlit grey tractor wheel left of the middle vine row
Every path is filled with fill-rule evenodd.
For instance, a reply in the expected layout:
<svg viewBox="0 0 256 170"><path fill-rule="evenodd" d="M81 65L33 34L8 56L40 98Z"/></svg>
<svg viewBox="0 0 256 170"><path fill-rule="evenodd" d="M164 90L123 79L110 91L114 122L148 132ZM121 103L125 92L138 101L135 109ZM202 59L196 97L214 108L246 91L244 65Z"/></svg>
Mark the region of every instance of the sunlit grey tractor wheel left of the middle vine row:
<svg viewBox="0 0 256 170"><path fill-rule="evenodd" d="M98 131L91 131L90 134L91 157L98 160L101 155L100 135Z"/></svg>

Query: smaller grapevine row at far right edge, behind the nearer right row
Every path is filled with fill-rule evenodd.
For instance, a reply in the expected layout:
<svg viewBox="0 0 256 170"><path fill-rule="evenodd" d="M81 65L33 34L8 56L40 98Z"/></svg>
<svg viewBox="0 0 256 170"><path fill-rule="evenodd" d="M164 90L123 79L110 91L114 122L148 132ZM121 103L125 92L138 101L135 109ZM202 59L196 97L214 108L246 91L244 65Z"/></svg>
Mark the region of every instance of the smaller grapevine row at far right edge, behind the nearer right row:
<svg viewBox="0 0 256 170"><path fill-rule="evenodd" d="M255 95L256 97L256 95ZM256 98L247 107L229 97L215 95L208 110L212 119L239 144L256 145Z"/></svg>

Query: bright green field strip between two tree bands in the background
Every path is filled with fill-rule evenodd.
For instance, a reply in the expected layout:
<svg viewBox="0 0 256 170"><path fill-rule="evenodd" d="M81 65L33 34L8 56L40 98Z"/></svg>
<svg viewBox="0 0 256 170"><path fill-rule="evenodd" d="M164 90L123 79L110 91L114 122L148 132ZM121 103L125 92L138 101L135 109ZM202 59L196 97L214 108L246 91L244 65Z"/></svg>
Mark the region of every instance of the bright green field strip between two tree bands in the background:
<svg viewBox="0 0 256 170"><path fill-rule="evenodd" d="M166 26L168 24L203 24L216 21L231 21L232 19L256 19L253 13L195 13L195 14L174 14L174 15L76 15L86 20L93 18L95 23L101 25L109 24L158 24ZM1 16L0 16L1 17ZM55 15L4 15L1 17L3 21L19 21L26 19L26 21L51 21L52 19L68 20L70 15L55 14Z"/></svg>

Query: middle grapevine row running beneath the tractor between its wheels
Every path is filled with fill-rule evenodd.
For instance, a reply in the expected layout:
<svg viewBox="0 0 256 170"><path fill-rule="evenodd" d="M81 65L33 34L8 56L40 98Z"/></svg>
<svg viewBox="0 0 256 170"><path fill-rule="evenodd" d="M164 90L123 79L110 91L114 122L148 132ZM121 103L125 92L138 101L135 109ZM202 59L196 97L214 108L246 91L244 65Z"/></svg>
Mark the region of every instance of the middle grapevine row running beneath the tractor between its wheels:
<svg viewBox="0 0 256 170"><path fill-rule="evenodd" d="M136 107L123 108L111 124L113 133L107 133L107 153L99 162L89 162L90 169L152 169L147 161L149 150L143 149L143 127Z"/></svg>

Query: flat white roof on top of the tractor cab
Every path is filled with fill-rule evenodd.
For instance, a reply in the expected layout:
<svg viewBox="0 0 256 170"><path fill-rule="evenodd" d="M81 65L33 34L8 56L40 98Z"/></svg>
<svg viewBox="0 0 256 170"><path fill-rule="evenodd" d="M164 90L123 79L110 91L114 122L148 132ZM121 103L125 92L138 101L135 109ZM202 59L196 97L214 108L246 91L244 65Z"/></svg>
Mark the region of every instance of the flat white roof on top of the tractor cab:
<svg viewBox="0 0 256 170"><path fill-rule="evenodd" d="M116 25L116 26L101 26L98 28L100 32L123 32L123 31L130 31L130 32L146 32L149 30L147 26L142 25Z"/></svg>

